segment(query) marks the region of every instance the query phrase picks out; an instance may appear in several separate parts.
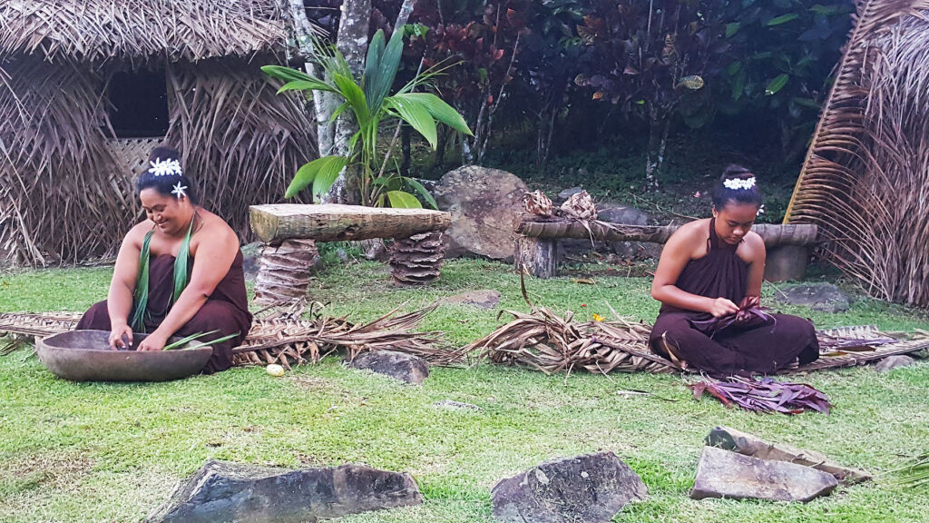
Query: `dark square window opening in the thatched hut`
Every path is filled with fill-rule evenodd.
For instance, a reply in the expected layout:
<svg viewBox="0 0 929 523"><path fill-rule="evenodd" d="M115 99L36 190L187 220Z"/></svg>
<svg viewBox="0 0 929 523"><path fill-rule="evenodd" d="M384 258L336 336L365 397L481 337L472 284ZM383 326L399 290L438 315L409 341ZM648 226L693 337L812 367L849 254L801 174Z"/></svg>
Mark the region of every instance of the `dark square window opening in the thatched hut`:
<svg viewBox="0 0 929 523"><path fill-rule="evenodd" d="M107 88L115 138L156 138L168 131L168 93L164 69L120 72Z"/></svg>

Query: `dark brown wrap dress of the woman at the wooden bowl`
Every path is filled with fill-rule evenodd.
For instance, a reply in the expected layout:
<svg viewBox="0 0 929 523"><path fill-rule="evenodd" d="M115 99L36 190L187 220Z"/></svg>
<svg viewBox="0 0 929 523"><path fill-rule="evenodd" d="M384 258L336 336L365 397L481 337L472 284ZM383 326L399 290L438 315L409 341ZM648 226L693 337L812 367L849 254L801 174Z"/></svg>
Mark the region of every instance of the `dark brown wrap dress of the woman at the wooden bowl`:
<svg viewBox="0 0 929 523"><path fill-rule="evenodd" d="M175 257L163 254L150 259L149 262L149 303L145 329L151 332L157 329L168 314L171 294L174 292ZM196 261L194 261L196 263ZM191 271L193 263L190 264ZM110 314L107 302L95 303L81 318L77 329L111 330ZM190 321L175 332L175 336L190 336L200 332L218 330L216 334L203 336L199 341L209 342L229 334L239 336L219 342L213 347L213 355L203 367L203 372L212 374L232 366L232 347L242 344L249 329L252 329L252 315L248 312L248 296L245 292L245 275L242 272L242 251L236 254L229 272L216 285L216 289L203 307Z"/></svg>

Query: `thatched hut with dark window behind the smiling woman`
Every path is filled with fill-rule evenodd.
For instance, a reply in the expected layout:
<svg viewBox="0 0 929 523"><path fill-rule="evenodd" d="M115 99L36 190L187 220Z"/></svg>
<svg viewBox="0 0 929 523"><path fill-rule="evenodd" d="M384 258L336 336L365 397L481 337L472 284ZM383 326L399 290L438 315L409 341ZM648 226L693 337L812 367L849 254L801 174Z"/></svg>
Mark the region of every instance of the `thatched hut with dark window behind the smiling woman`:
<svg viewBox="0 0 929 523"><path fill-rule="evenodd" d="M288 16L278 0L0 3L0 257L113 253L158 143L248 235L248 205L316 156L303 101L258 70L286 61Z"/></svg>

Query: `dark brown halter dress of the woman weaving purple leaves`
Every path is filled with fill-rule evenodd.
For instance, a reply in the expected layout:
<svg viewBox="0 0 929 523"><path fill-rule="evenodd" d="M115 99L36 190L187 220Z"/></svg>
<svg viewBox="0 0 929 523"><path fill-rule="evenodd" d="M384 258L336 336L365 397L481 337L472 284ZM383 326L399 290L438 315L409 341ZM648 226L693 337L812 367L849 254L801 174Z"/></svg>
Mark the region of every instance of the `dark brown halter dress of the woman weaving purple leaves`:
<svg viewBox="0 0 929 523"><path fill-rule="evenodd" d="M691 294L740 303L746 295L749 267L736 255L738 247L720 246L715 220L711 220L707 255L687 262L675 285ZM687 362L688 368L714 377L770 373L790 366L798 357L801 365L819 357L811 322L792 315L771 316L710 332L698 329L694 322L713 315L665 304L651 329L649 344L652 352L664 357L669 357L666 343L671 345L670 352Z"/></svg>

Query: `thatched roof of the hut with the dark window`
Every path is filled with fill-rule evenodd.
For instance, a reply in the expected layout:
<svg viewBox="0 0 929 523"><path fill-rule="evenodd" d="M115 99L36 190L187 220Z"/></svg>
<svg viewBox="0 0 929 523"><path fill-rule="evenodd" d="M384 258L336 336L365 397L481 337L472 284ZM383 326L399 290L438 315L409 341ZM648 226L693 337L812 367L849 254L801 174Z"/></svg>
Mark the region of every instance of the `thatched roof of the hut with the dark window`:
<svg viewBox="0 0 929 523"><path fill-rule="evenodd" d="M0 56L203 60L281 50L279 0L3 0Z"/></svg>

